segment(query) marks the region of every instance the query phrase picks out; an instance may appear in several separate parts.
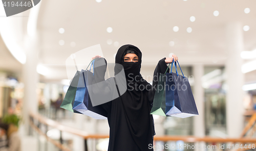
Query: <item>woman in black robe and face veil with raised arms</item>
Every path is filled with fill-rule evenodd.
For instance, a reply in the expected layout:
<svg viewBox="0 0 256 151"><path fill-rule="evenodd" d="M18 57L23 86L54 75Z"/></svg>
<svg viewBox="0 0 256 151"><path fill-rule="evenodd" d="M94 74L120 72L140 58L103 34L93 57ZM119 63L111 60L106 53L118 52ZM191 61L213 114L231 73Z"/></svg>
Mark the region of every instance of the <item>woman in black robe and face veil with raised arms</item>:
<svg viewBox="0 0 256 151"><path fill-rule="evenodd" d="M166 64L171 63L173 59L177 61L178 58L173 55L173 58L161 59L154 72L153 85L150 85L140 74L141 57L140 49L130 44L121 46L116 54L115 63L123 66L127 90L120 97L100 105L108 113L110 127L108 151L153 150L149 147L153 144L155 135L154 120L150 111L158 76L166 71ZM99 58L95 60L97 64L101 58L95 56L93 59L95 58ZM95 73L100 73L97 68Z"/></svg>

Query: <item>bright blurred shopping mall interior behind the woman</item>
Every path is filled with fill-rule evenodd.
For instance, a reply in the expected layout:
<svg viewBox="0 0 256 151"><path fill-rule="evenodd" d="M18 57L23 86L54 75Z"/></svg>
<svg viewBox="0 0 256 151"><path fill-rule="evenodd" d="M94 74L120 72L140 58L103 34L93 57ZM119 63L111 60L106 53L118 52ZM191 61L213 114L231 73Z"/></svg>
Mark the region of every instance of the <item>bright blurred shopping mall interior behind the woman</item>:
<svg viewBox="0 0 256 151"><path fill-rule="evenodd" d="M108 150L107 119L60 105L76 70L95 55L115 63L124 44L142 52L148 83L175 54L195 98L199 115L153 115L154 150L254 150L256 1L42 0L8 17L1 3L0 13L0 122L19 139L0 129L0 150Z"/></svg>

